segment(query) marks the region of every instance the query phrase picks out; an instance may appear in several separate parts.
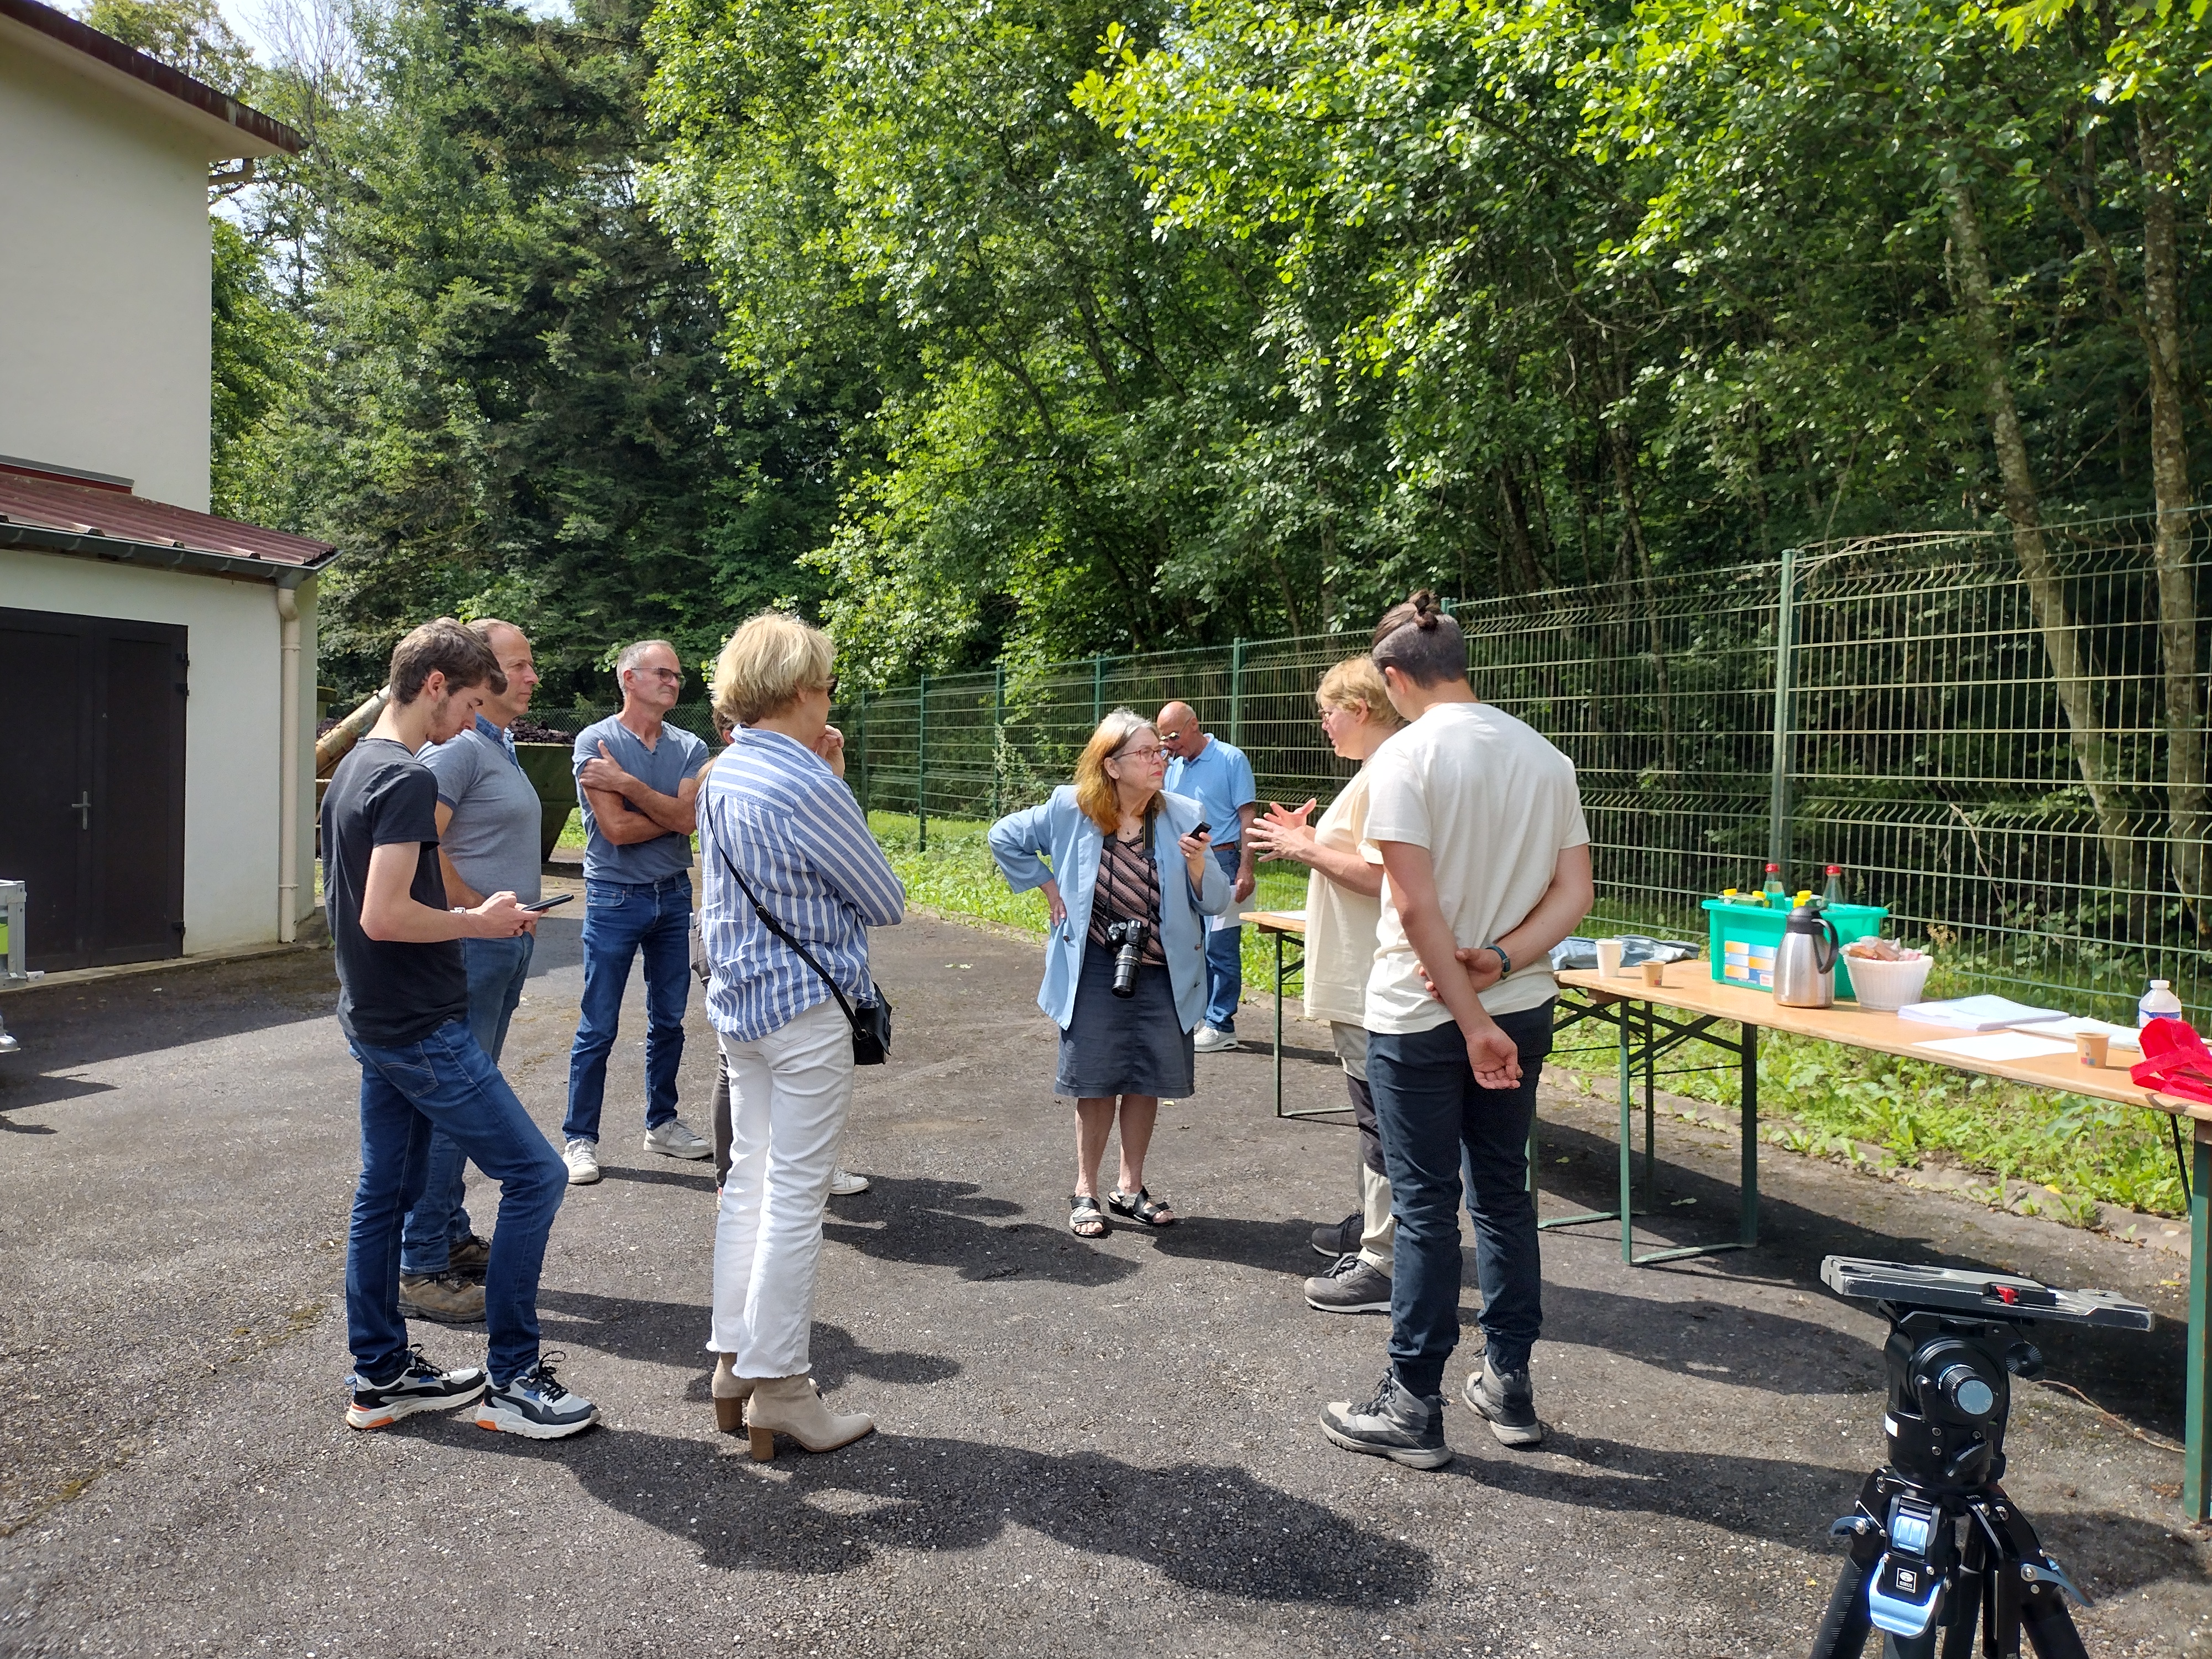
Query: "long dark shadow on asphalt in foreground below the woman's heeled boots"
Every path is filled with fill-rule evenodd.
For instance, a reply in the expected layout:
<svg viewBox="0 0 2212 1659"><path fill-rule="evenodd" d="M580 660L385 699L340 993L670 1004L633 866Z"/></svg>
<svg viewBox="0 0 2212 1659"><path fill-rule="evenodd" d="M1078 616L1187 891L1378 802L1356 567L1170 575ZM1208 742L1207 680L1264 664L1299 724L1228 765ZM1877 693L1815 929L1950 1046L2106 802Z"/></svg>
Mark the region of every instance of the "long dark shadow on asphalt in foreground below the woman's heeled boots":
<svg viewBox="0 0 2212 1659"><path fill-rule="evenodd" d="M480 1449L467 1422L414 1425L431 1438L473 1436ZM695 1544L719 1568L849 1573L878 1551L975 1551L1022 1526L1079 1557L1121 1555L1245 1601L1389 1606L1425 1597L1436 1579L1427 1551L1349 1526L1228 1464L1148 1469L1095 1451L891 1433L821 1458L785 1449L768 1469L745 1460L743 1440L714 1453L628 1429L491 1442L513 1458L568 1467L602 1504Z"/></svg>

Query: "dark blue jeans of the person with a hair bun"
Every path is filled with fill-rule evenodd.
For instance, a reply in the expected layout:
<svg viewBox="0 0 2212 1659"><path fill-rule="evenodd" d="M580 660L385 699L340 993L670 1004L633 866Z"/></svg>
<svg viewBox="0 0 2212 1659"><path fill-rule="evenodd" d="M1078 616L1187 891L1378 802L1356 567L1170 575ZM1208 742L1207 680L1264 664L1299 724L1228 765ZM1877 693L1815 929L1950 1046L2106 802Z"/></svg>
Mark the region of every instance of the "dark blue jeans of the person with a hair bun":
<svg viewBox="0 0 2212 1659"><path fill-rule="evenodd" d="M1482 1334L1500 1371L1528 1369L1544 1327L1528 1124L1535 1079L1551 1053L1551 1006L1500 1013L1520 1048L1515 1088L1484 1088L1451 1020L1433 1031L1367 1035L1367 1086L1383 1130L1391 1214L1389 1358L1398 1383L1442 1394L1444 1360L1460 1345L1460 1172L1475 1223Z"/></svg>

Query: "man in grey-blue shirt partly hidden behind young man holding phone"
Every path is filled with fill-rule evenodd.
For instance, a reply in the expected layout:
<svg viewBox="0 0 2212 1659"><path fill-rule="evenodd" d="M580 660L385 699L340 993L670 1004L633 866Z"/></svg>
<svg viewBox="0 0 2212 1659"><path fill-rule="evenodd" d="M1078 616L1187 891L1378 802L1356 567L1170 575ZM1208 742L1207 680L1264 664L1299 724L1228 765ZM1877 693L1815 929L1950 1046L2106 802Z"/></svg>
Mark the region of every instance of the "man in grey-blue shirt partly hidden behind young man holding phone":
<svg viewBox="0 0 2212 1659"><path fill-rule="evenodd" d="M511 622L482 617L469 633L491 646L507 690L484 697L476 723L418 757L438 779L438 865L445 896L462 909L489 894L518 905L540 898L538 790L515 757L513 723L529 712L538 670L531 641ZM465 938L469 969L469 1035L500 1064L507 1022L522 1002L535 933ZM467 1325L484 1316L484 1263L491 1245L476 1237L462 1203L467 1159L442 1128L431 1130L422 1197L400 1228L400 1316Z"/></svg>

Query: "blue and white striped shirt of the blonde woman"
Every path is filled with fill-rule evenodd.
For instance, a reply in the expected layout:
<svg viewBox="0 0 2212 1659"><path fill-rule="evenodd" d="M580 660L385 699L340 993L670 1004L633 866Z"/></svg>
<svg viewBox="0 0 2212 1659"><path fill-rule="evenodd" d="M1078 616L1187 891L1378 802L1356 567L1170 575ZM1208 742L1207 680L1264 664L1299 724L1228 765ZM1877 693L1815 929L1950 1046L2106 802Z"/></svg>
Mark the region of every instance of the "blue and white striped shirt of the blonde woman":
<svg viewBox="0 0 2212 1659"><path fill-rule="evenodd" d="M706 1018L757 1042L830 1002L830 987L761 927L723 856L849 1000L867 998L867 929L900 920L907 889L852 790L805 743L741 726L699 792L699 931L714 969Z"/></svg>

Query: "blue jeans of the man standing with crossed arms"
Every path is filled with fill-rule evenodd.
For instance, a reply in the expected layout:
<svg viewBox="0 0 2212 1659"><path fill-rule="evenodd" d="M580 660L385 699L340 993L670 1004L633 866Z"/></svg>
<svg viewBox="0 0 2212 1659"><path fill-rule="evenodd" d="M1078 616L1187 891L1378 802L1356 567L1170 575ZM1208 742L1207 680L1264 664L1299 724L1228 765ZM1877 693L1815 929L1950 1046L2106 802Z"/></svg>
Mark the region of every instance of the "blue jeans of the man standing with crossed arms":
<svg viewBox="0 0 2212 1659"><path fill-rule="evenodd" d="M568 1139L599 1139L606 1055L622 1029L630 958L646 953L646 1128L677 1115L684 1006L690 1002L690 876L650 885L584 883L584 1013L568 1051Z"/></svg>

